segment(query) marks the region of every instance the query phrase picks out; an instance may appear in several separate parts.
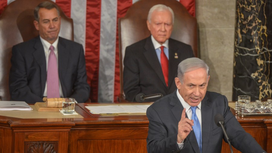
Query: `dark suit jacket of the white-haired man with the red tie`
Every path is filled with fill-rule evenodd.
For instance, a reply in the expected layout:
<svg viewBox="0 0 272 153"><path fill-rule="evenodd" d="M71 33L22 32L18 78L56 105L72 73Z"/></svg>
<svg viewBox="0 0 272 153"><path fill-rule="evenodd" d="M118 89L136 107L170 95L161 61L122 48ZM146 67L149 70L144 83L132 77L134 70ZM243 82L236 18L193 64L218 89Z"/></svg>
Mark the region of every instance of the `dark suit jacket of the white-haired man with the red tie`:
<svg viewBox="0 0 272 153"><path fill-rule="evenodd" d="M165 96L176 89L174 78L177 75L178 64L186 58L194 57L194 55L190 45L174 39L169 39L168 46L168 87L164 81L164 75L151 36L126 48L123 82L125 97L128 101L135 101L135 96L139 93L145 95L161 93ZM157 99L152 98L148 101Z"/></svg>

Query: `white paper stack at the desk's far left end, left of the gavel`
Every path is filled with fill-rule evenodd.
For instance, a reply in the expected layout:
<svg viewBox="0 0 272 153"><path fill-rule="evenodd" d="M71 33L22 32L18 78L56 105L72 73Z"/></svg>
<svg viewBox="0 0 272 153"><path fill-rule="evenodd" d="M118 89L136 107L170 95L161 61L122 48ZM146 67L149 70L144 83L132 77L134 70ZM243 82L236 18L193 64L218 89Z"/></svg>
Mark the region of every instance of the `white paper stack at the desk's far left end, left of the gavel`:
<svg viewBox="0 0 272 153"><path fill-rule="evenodd" d="M0 111L11 111L11 110L33 110L24 101L0 101Z"/></svg>

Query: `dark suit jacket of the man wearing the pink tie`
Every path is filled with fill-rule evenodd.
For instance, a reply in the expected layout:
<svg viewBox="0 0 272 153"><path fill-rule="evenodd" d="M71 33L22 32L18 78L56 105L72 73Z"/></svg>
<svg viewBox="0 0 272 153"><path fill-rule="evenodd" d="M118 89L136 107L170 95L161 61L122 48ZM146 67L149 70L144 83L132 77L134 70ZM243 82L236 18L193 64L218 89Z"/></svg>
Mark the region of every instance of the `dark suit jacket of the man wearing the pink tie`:
<svg viewBox="0 0 272 153"><path fill-rule="evenodd" d="M90 87L83 46L59 37L58 69L63 96L77 102L88 100ZM12 100L42 102L46 78L46 60L39 36L13 46L9 74Z"/></svg>

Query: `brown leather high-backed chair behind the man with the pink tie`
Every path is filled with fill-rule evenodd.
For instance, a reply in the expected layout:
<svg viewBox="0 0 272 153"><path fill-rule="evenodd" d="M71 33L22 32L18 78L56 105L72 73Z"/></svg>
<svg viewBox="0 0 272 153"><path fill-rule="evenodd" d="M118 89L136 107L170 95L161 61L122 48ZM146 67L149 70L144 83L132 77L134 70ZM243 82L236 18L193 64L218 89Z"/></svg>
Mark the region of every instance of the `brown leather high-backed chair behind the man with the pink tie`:
<svg viewBox="0 0 272 153"><path fill-rule="evenodd" d="M33 24L33 14L34 8L43 1L45 0L16 0L11 2L0 16L0 99L3 101L10 100L8 75L11 67L11 48L38 36ZM60 14L60 36L73 40L73 20L62 11Z"/></svg>

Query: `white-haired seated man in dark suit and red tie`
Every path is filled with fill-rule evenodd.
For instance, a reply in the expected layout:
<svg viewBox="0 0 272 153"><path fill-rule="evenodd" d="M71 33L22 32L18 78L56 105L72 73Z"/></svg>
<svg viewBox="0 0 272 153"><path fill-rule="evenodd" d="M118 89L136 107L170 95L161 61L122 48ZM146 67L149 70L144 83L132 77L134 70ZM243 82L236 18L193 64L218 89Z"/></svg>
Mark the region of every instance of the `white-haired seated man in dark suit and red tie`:
<svg viewBox="0 0 272 153"><path fill-rule="evenodd" d="M170 7L154 5L147 16L151 36L126 48L123 82L128 101L135 101L139 93L168 95L176 90L178 64L194 55L190 45L170 38L173 23L174 12Z"/></svg>

